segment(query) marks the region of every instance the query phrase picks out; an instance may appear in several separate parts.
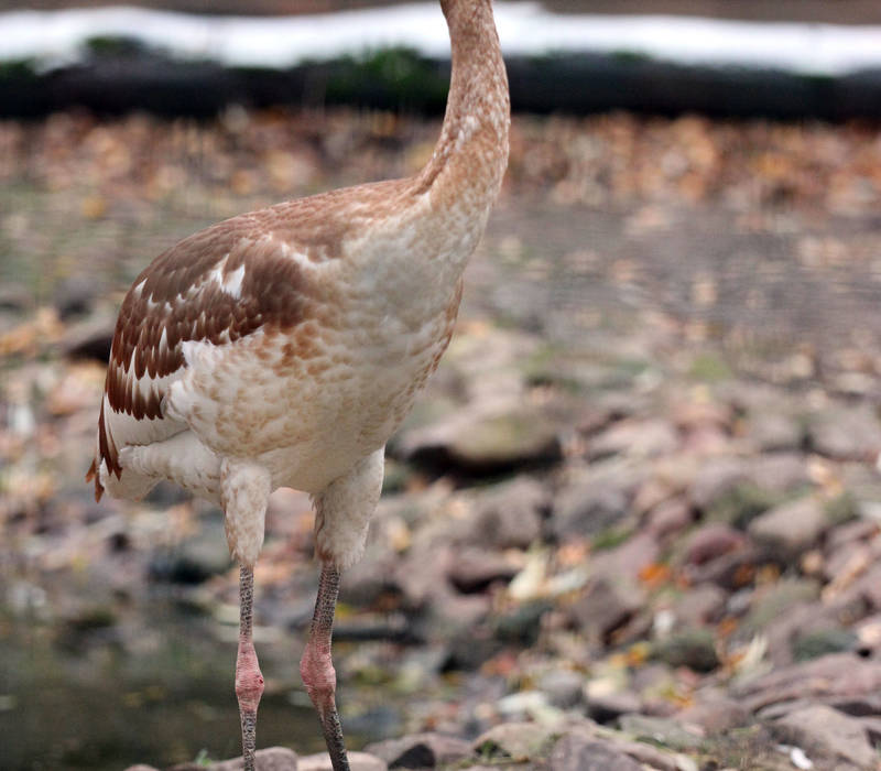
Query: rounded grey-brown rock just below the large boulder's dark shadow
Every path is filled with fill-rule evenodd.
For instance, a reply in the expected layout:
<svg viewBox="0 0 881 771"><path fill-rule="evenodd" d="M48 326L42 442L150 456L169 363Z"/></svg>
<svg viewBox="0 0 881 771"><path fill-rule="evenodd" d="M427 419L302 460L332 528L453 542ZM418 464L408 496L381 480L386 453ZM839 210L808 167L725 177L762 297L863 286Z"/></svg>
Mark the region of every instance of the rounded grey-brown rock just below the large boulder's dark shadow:
<svg viewBox="0 0 881 771"><path fill-rule="evenodd" d="M469 541L489 549L526 549L541 535L550 506L544 486L532 477L493 487L475 506Z"/></svg>

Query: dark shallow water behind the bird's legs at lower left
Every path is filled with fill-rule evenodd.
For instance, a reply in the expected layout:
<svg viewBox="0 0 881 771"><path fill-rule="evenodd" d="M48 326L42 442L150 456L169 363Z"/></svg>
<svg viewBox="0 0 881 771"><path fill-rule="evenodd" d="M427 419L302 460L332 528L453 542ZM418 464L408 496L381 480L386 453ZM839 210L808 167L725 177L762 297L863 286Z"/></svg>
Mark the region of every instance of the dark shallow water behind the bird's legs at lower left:
<svg viewBox="0 0 881 771"><path fill-rule="evenodd" d="M113 628L58 633L0 621L0 769L110 771L144 762L164 767L199 753L239 754L235 642L218 641L210 622L171 604L151 607L148 617L151 628L133 632L140 638L134 651ZM259 650L268 689L258 746L323 749L317 718L294 674L296 641ZM345 703L340 708L345 720ZM352 719L351 747L382 732L369 724L361 721L367 731L359 735Z"/></svg>

